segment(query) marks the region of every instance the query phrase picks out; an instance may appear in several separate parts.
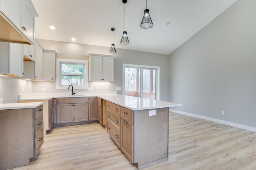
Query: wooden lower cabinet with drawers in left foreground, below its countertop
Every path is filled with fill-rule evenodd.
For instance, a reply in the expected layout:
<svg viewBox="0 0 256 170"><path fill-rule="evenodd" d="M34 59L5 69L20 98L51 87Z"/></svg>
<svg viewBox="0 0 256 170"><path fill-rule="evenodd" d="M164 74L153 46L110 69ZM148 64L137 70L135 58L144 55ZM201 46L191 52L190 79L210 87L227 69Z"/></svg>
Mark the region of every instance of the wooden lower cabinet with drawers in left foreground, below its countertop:
<svg viewBox="0 0 256 170"><path fill-rule="evenodd" d="M44 143L43 105L0 110L0 170L30 164Z"/></svg>

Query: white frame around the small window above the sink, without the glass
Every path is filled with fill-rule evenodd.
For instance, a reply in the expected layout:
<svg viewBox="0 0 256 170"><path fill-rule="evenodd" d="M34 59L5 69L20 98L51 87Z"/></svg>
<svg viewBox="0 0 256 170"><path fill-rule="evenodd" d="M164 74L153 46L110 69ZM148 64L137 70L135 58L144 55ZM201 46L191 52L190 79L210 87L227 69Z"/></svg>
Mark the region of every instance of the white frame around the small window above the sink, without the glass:
<svg viewBox="0 0 256 170"><path fill-rule="evenodd" d="M56 89L68 89L69 85L61 85L61 63L83 64L84 65L84 85L73 85L75 89L88 89L88 61L78 59L56 59Z"/></svg>

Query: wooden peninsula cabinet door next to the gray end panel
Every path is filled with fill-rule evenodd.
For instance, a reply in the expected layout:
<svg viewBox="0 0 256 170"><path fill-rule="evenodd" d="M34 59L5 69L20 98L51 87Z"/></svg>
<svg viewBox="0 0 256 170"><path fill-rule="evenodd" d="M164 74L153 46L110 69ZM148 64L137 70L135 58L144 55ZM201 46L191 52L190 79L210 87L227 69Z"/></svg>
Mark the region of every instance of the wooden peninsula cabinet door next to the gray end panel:
<svg viewBox="0 0 256 170"><path fill-rule="evenodd" d="M121 150L133 163L132 159L132 129L133 124L121 119Z"/></svg>

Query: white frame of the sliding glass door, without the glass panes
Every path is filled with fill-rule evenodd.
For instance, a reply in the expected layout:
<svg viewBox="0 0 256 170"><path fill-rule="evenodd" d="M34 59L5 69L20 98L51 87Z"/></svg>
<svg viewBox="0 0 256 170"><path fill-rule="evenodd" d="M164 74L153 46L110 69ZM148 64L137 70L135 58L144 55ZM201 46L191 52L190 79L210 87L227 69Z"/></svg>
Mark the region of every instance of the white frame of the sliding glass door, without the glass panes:
<svg viewBox="0 0 256 170"><path fill-rule="evenodd" d="M154 69L156 70L156 100L160 100L160 67L158 66L149 66L149 65L136 65L136 64L123 64L123 90L122 93L125 95L125 68L130 67L130 68L136 68L136 69L141 69L141 72L143 69ZM143 76L142 73L140 75L140 96L143 97Z"/></svg>

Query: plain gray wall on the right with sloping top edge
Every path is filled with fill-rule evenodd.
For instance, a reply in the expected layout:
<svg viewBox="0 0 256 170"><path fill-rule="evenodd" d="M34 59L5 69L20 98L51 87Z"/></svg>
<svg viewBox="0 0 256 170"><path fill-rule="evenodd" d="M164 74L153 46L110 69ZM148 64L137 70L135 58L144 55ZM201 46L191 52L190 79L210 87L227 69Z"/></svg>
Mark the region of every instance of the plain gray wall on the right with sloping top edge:
<svg viewBox="0 0 256 170"><path fill-rule="evenodd" d="M255 9L238 0L169 55L173 109L256 127Z"/></svg>

